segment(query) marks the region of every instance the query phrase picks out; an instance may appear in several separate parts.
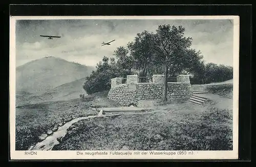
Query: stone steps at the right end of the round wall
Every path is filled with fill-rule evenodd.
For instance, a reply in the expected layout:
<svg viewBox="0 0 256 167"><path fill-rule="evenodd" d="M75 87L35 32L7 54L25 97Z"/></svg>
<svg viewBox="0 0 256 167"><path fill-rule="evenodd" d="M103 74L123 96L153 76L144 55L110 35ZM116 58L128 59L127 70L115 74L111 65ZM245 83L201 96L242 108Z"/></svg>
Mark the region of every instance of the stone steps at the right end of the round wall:
<svg viewBox="0 0 256 167"><path fill-rule="evenodd" d="M207 98L200 96L200 93L208 93L202 85L191 85L193 96L189 97L188 101L195 104L204 103Z"/></svg>

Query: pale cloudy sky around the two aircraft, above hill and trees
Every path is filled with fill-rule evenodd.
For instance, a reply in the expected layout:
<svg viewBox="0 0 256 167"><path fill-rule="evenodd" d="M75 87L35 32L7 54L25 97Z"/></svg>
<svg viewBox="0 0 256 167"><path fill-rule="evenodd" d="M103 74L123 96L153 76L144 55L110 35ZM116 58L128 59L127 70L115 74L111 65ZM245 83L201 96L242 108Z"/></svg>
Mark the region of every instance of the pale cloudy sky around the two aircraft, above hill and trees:
<svg viewBox="0 0 256 167"><path fill-rule="evenodd" d="M182 25L192 37L191 48L200 50L206 63L233 63L232 20L16 20L16 66L47 56L95 66L103 56L112 57L119 46L134 41L144 30L156 32L158 25ZM61 36L49 40L40 35ZM111 45L101 43L114 40Z"/></svg>

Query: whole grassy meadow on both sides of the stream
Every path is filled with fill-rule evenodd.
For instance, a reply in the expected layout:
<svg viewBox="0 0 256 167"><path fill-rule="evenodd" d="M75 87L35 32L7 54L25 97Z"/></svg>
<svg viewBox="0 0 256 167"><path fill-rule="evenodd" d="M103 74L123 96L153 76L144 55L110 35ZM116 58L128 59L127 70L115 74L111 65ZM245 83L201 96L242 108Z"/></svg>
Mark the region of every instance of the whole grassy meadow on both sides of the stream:
<svg viewBox="0 0 256 167"><path fill-rule="evenodd" d="M16 108L16 150L27 150L38 136L70 117L95 115L89 107L118 107L107 92L84 99ZM153 112L79 121L53 150L231 150L232 111L199 106L184 99L159 102Z"/></svg>

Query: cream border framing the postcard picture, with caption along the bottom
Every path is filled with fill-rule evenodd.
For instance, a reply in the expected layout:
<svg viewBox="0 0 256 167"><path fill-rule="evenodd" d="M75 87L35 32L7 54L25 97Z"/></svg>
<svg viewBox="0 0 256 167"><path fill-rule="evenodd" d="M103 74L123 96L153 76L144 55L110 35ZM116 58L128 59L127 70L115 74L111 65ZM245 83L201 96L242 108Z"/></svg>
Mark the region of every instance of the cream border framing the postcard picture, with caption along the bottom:
<svg viewBox="0 0 256 167"><path fill-rule="evenodd" d="M232 19L233 20L233 150L232 151L186 151L186 155L148 155L150 151L117 151L132 155L77 155L77 151L36 151L37 155L25 155L15 150L15 21L42 19ZM10 16L10 154L11 160L20 159L238 159L238 99L239 99L239 16ZM80 151L80 152L97 152ZM98 150L98 152L102 152ZM103 151L104 152L104 151ZM115 152L115 151L112 151ZM140 152L140 155L133 155ZM147 152L147 155L142 153ZM175 153L175 155L174 155Z"/></svg>

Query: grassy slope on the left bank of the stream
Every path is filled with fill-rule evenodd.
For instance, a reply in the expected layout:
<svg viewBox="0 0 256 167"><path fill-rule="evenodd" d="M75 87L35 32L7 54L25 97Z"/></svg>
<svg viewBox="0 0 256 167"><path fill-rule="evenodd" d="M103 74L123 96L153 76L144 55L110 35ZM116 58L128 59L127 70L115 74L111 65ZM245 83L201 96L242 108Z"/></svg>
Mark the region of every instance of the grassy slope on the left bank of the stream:
<svg viewBox="0 0 256 167"><path fill-rule="evenodd" d="M85 99L45 102L16 107L16 150L27 150L39 142L38 136L56 123L75 117L96 114L88 109L91 105L115 106L106 92L90 95ZM97 102L101 101L101 102Z"/></svg>

